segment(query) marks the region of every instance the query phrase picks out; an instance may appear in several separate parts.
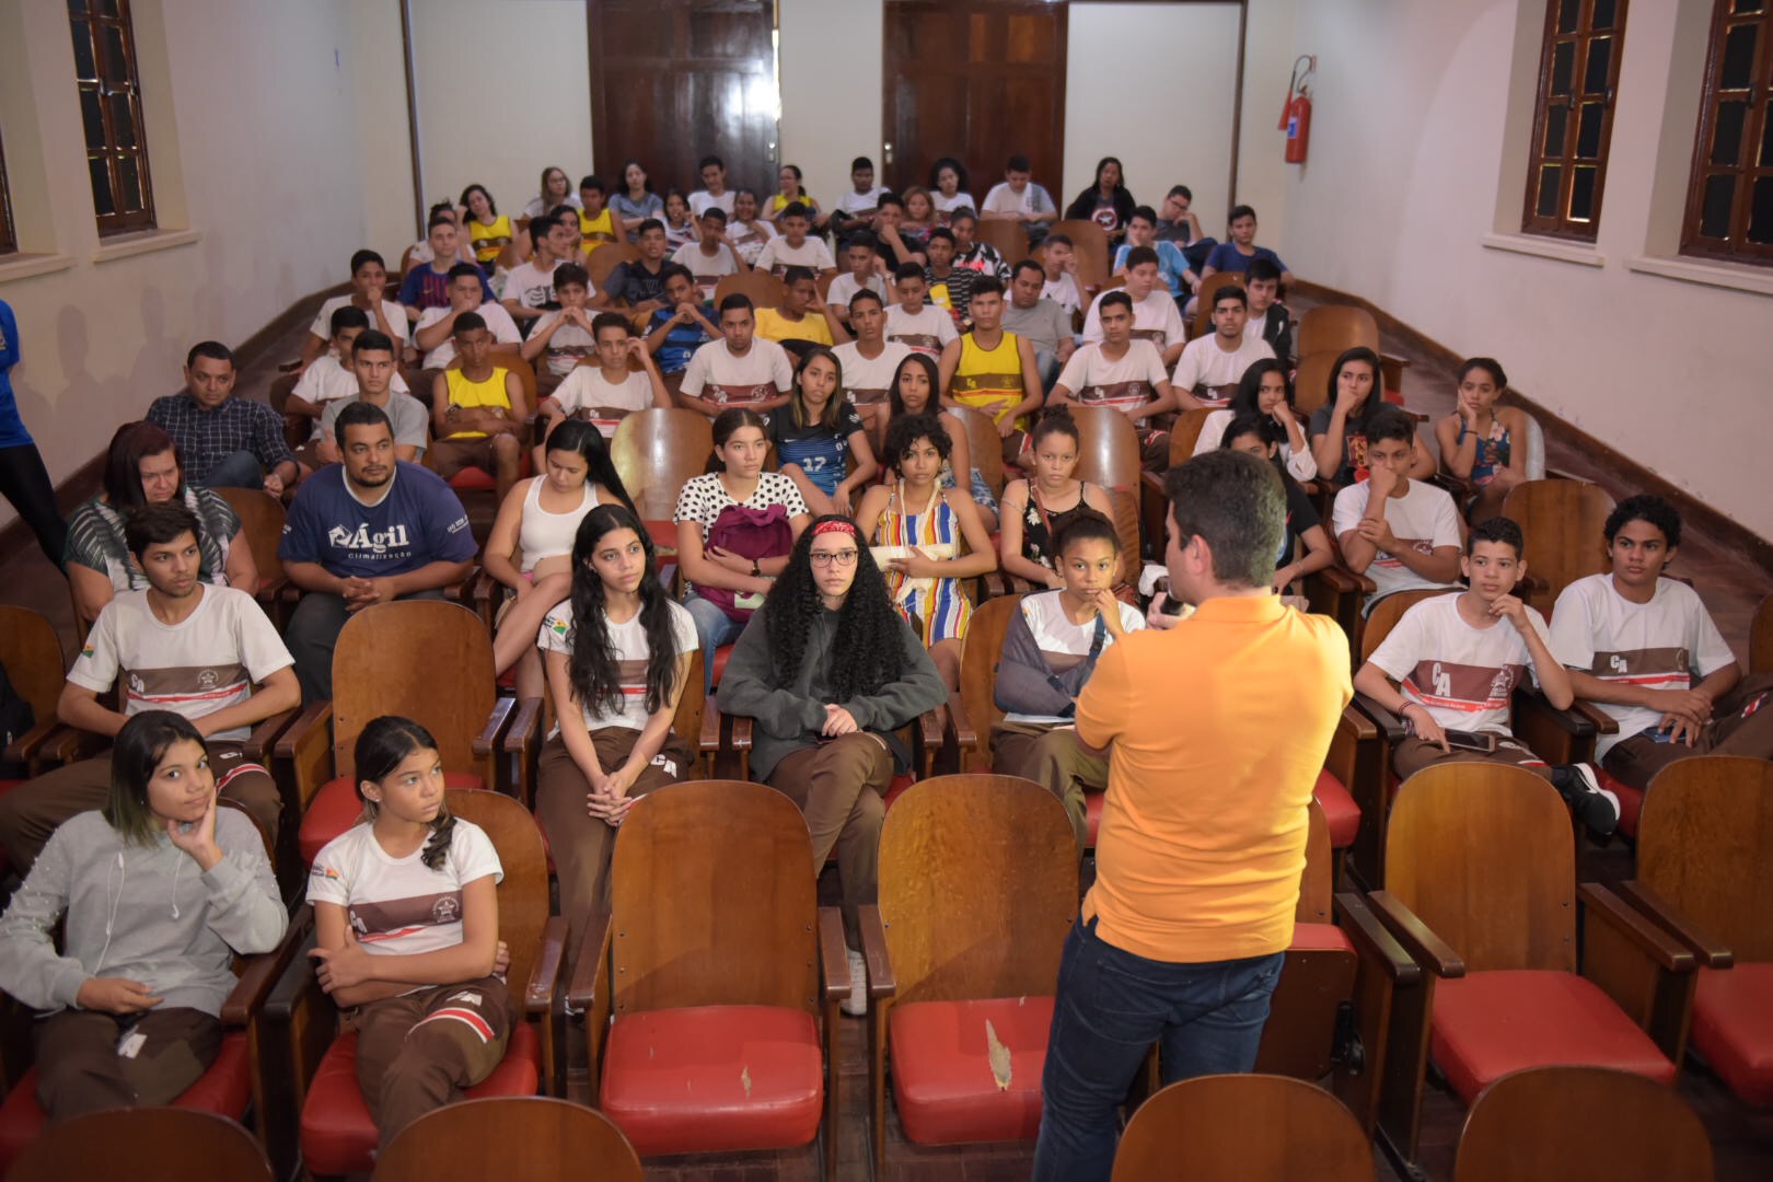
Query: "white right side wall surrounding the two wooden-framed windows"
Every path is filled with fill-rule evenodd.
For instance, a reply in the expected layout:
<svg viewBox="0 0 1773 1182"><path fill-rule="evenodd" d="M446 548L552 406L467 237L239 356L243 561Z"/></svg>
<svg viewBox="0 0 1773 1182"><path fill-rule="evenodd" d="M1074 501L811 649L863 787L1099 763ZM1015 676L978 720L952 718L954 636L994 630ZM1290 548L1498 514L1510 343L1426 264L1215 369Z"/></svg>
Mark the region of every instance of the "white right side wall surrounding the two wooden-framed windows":
<svg viewBox="0 0 1773 1182"><path fill-rule="evenodd" d="M1631 5L1599 239L1571 262L1486 246L1519 229L1521 145L1505 97L1534 87L1539 41L1516 32L1543 23L1543 0L1298 5L1296 48L1319 55L1319 87L1278 250L1298 275L1365 296L1457 353L1496 356L1539 404L1773 537L1773 301L1633 266L1667 248L1679 218L1668 174L1684 193L1693 121L1670 108L1691 110L1691 25L1706 11ZM1764 269L1738 271L1766 282Z"/></svg>

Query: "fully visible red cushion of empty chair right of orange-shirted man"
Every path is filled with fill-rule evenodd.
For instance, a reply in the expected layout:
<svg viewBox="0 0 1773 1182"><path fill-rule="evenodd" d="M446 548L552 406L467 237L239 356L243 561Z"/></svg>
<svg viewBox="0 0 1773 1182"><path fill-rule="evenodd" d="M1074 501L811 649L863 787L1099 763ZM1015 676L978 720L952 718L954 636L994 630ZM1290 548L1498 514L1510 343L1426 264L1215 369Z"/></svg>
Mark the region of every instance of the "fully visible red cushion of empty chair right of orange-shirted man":
<svg viewBox="0 0 1773 1182"><path fill-rule="evenodd" d="M1674 1083L1674 1063L1599 985L1505 969L1434 984L1429 1054L1466 1104L1527 1067L1615 1067Z"/></svg>

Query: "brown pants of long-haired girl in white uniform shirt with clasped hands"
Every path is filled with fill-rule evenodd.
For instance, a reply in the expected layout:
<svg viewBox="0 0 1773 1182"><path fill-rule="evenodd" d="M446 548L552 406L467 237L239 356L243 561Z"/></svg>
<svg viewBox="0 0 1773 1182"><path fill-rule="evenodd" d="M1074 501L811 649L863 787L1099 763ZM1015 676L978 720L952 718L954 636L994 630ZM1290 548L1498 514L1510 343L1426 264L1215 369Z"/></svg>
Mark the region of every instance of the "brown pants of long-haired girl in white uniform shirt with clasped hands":
<svg viewBox="0 0 1773 1182"><path fill-rule="evenodd" d="M598 764L615 769L628 762L640 732L631 727L603 727L590 732ZM691 774L695 757L677 735L668 735L665 746L628 796L645 796L677 783ZM566 916L567 955L576 955L585 920L610 913L610 852L615 849L617 829L585 810L590 785L566 750L560 735L543 746L541 767L535 778L535 820L548 835L555 874L560 879L560 914Z"/></svg>

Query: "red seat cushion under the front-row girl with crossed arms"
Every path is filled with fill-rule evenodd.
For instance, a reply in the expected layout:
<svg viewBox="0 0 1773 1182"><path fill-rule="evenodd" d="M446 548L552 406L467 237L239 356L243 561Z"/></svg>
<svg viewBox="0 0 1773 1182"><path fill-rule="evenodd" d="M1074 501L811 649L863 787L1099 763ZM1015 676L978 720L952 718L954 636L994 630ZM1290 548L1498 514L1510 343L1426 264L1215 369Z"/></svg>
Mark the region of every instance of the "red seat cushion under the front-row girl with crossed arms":
<svg viewBox="0 0 1773 1182"><path fill-rule="evenodd" d="M541 1083L541 1042L530 1023L518 1023L505 1044L505 1058L493 1074L465 1088L479 1100L489 1095L535 1095ZM376 1168L381 1134L369 1118L363 1092L356 1086L356 1031L333 1038L309 1083L301 1104L301 1161L310 1175L369 1173Z"/></svg>

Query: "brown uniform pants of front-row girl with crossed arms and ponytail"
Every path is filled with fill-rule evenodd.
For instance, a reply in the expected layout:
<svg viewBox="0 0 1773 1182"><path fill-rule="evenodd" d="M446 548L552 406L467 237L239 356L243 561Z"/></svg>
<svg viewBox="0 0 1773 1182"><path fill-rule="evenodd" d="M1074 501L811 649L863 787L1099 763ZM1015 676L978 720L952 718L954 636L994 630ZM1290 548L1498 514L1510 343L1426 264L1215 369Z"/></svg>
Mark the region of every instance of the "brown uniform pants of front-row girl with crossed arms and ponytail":
<svg viewBox="0 0 1773 1182"><path fill-rule="evenodd" d="M496 976L371 1001L356 1030L356 1086L381 1147L420 1116L461 1099L498 1067L516 1014Z"/></svg>

